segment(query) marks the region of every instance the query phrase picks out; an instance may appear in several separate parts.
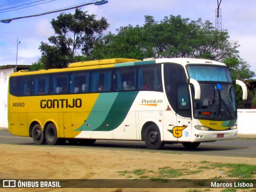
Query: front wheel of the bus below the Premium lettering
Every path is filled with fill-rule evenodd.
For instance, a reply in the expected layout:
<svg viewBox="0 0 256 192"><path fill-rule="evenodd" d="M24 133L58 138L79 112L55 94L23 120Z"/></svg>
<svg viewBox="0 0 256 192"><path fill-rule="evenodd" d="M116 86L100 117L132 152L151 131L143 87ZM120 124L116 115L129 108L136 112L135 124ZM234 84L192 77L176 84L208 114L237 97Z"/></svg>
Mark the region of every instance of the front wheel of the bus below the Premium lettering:
<svg viewBox="0 0 256 192"><path fill-rule="evenodd" d="M144 133L145 143L149 149L160 149L164 147L164 143L161 141L159 128L151 124L146 128Z"/></svg>

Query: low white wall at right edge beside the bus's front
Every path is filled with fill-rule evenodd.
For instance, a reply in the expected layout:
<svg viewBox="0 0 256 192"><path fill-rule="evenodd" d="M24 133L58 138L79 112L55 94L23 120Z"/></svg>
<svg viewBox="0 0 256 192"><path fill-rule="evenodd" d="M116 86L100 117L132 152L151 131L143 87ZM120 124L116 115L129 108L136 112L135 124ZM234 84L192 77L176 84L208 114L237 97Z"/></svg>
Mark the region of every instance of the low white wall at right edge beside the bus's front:
<svg viewBox="0 0 256 192"><path fill-rule="evenodd" d="M238 109L238 134L256 134L256 109Z"/></svg>

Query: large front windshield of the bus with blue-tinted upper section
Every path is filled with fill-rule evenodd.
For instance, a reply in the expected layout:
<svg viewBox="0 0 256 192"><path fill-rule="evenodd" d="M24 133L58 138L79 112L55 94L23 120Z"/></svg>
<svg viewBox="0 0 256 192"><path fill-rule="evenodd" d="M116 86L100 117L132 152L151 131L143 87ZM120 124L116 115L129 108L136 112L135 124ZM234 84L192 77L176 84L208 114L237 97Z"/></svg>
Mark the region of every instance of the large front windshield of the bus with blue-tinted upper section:
<svg viewBox="0 0 256 192"><path fill-rule="evenodd" d="M194 118L230 120L237 118L232 79L226 67L188 66L190 78L200 84L200 100L193 102ZM193 89L192 89L193 90Z"/></svg>

